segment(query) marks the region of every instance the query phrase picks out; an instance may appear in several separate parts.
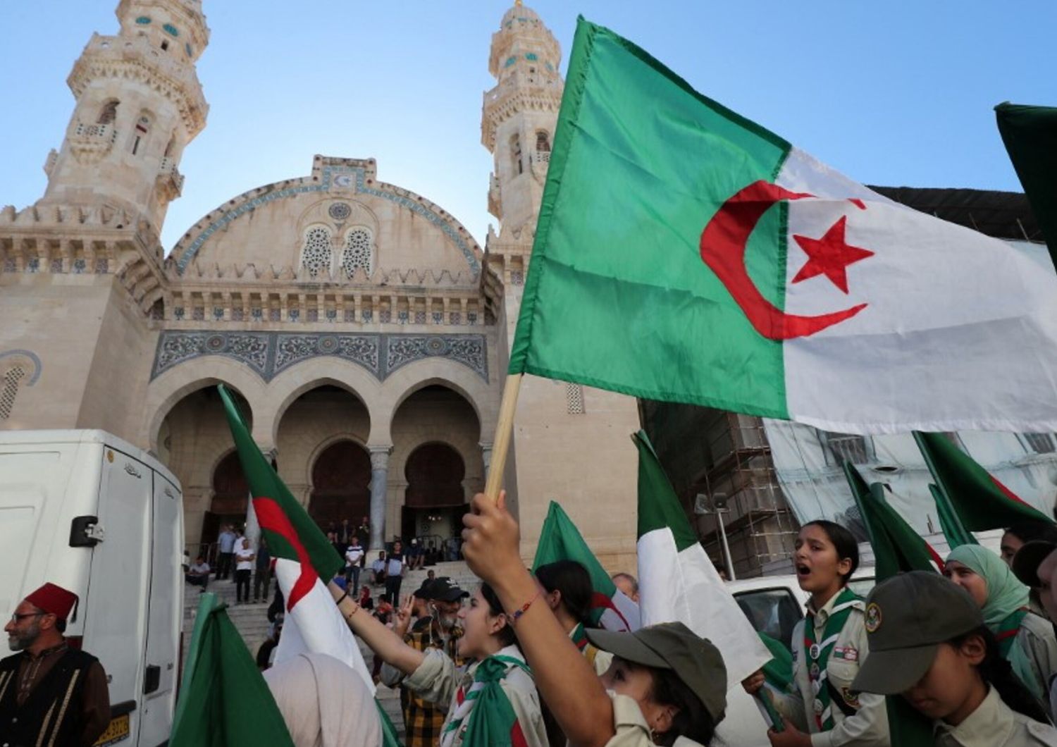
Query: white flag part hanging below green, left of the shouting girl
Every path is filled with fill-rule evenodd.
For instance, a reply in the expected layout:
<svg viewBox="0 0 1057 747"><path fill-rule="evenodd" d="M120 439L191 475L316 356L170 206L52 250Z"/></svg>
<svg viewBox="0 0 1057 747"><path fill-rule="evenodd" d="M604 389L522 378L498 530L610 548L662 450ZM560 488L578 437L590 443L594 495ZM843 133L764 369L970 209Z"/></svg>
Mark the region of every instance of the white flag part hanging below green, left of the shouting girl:
<svg viewBox="0 0 1057 747"><path fill-rule="evenodd" d="M679 552L667 527L639 537L638 608L644 625L680 621L708 638L723 655L727 710L712 744L767 747L766 723L741 680L763 667L771 654L705 548L694 542Z"/></svg>

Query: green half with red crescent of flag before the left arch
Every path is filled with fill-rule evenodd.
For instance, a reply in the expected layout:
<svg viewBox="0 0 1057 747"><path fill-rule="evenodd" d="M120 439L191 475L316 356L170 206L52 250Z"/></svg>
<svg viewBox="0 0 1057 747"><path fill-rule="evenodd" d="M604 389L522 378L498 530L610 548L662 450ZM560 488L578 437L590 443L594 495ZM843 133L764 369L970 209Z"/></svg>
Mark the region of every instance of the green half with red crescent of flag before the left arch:
<svg viewBox="0 0 1057 747"><path fill-rule="evenodd" d="M301 576L286 599L286 609L293 609L312 590L316 576L323 583L330 581L345 566L345 560L264 459L227 388L221 384L217 389L268 552L272 557L301 565Z"/></svg>

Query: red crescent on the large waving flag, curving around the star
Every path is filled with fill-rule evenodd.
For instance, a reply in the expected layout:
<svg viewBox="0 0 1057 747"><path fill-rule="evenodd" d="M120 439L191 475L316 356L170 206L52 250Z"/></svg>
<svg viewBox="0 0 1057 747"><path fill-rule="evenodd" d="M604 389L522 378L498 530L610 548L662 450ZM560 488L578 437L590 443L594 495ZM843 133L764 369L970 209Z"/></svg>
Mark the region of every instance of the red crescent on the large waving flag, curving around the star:
<svg viewBox="0 0 1057 747"><path fill-rule="evenodd" d="M858 314L867 304L832 314L798 316L785 314L763 297L745 268L745 245L763 213L781 200L801 200L814 194L792 192L760 180L729 198L701 232L701 259L716 273L753 328L771 340L805 337Z"/></svg>

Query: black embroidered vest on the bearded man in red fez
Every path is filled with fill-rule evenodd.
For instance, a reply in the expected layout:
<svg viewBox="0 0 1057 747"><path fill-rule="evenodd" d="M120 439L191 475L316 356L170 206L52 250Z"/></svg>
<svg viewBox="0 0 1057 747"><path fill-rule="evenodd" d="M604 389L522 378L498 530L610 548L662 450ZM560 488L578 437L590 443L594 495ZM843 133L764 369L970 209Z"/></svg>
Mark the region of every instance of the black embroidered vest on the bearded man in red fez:
<svg viewBox="0 0 1057 747"><path fill-rule="evenodd" d="M18 705L18 666L24 654L0 660L0 733L12 747L77 747L84 728L80 702L88 668L97 659L68 650Z"/></svg>

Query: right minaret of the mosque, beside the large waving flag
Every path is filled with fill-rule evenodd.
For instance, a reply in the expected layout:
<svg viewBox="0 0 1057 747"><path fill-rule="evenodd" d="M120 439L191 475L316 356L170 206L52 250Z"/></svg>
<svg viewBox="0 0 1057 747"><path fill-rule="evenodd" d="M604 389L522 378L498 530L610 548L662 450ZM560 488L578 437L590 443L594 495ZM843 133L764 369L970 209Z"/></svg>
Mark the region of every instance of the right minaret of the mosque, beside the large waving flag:
<svg viewBox="0 0 1057 747"><path fill-rule="evenodd" d="M500 221L500 242L535 235L554 126L561 105L561 50L554 35L518 0L492 35L488 71L497 78L484 94L481 143L495 157L488 211Z"/></svg>

